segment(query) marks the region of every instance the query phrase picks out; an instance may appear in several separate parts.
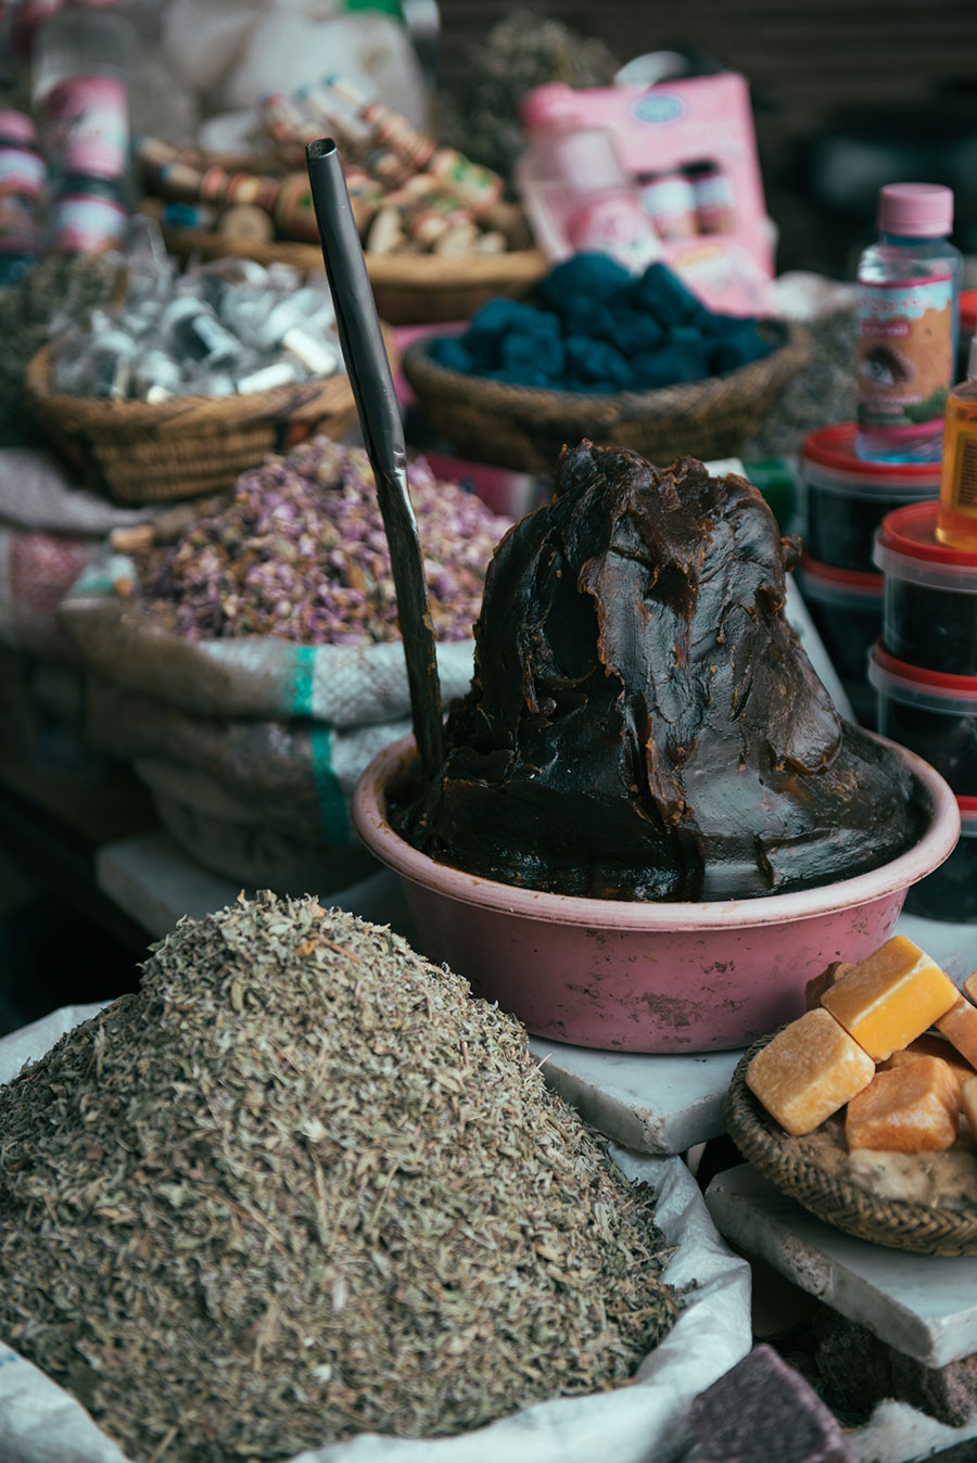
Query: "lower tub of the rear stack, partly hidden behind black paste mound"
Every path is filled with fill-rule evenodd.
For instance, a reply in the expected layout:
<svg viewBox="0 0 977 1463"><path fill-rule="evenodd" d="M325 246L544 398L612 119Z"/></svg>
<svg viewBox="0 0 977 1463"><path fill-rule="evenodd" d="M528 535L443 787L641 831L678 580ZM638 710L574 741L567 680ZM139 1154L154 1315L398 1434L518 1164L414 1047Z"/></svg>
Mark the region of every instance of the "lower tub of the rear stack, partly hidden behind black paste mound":
<svg viewBox="0 0 977 1463"><path fill-rule="evenodd" d="M856 717L863 726L875 726L867 666L882 632L882 575L834 569L804 554L797 587Z"/></svg>

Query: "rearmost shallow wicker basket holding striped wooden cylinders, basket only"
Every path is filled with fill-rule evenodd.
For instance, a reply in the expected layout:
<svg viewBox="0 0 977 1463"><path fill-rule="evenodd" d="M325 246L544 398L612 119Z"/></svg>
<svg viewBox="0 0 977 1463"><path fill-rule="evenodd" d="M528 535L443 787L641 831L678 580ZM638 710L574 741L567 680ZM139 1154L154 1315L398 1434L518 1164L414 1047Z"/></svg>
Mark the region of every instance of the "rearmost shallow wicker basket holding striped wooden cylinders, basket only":
<svg viewBox="0 0 977 1463"><path fill-rule="evenodd" d="M301 274L322 274L319 244L260 243L206 228L164 227L171 255L187 259L256 259L287 263ZM388 325L442 325L468 320L493 296L521 300L550 268L538 249L503 255L377 255L367 250L367 272L376 310Z"/></svg>

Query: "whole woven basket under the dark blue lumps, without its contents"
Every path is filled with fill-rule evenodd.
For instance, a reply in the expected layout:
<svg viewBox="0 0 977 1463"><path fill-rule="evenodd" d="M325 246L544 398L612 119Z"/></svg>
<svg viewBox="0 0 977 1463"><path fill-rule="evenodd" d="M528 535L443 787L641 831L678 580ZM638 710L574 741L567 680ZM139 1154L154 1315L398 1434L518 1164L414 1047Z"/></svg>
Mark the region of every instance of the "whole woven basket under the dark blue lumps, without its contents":
<svg viewBox="0 0 977 1463"><path fill-rule="evenodd" d="M462 456L551 477L565 443L635 448L660 467L689 454L742 451L790 377L809 360L803 326L763 326L777 348L728 376L658 391L585 395L510 386L439 366L430 339L404 351L402 369L430 426Z"/></svg>

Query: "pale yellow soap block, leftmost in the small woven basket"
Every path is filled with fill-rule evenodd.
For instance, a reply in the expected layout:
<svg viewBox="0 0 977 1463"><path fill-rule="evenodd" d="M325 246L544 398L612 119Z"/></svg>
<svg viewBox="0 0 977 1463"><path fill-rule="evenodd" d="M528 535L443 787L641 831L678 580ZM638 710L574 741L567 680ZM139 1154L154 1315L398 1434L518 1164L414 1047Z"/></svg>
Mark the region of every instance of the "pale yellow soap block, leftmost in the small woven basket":
<svg viewBox="0 0 977 1463"><path fill-rule="evenodd" d="M823 1009L785 1026L746 1068L746 1086L796 1138L813 1132L873 1077L872 1058Z"/></svg>

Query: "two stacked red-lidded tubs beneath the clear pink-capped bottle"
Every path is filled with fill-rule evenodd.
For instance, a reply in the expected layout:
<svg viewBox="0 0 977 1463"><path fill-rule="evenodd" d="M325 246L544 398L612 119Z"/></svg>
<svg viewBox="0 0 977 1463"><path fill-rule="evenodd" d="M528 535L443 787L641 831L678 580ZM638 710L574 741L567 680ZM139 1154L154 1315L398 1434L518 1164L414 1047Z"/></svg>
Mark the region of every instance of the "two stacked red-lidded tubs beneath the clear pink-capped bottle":
<svg viewBox="0 0 977 1463"><path fill-rule="evenodd" d="M856 424L818 427L800 458L804 557L799 584L851 707L875 726L869 651L882 632L883 584L873 562L886 514L935 500L939 462L866 462Z"/></svg>

